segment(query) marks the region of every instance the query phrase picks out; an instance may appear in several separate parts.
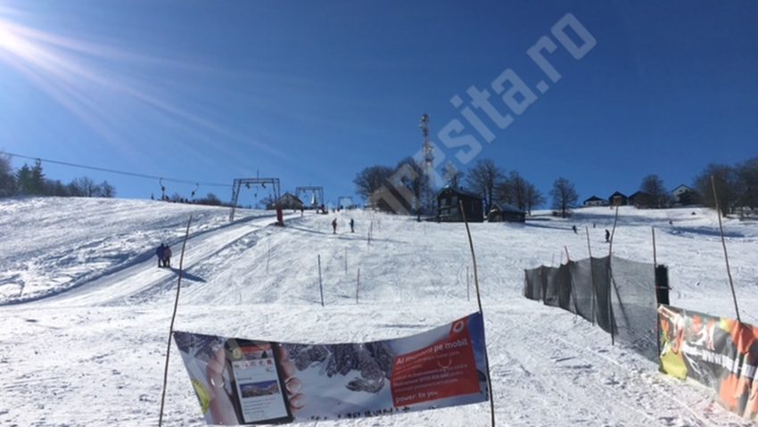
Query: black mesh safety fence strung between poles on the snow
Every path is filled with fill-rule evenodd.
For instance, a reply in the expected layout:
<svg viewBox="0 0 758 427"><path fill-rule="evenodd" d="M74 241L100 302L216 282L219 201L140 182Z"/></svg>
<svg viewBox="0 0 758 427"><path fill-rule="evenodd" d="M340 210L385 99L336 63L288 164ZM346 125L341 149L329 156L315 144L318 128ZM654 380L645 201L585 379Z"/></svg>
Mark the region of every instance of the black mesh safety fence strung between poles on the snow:
<svg viewBox="0 0 758 427"><path fill-rule="evenodd" d="M668 300L665 266L604 257L524 273L526 298L597 323L644 357L657 358L657 305Z"/></svg>

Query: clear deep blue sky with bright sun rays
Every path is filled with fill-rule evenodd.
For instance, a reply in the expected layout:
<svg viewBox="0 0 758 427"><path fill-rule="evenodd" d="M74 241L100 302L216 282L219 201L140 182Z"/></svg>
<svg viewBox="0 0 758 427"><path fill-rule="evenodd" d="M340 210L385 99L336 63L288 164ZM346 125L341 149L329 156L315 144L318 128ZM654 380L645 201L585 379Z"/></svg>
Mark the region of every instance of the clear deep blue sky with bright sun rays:
<svg viewBox="0 0 758 427"><path fill-rule="evenodd" d="M474 161L544 193L566 177L581 199L632 193L652 173L689 185L709 162L758 155L755 2L473 3L0 0L0 150L204 183L260 173L283 191L323 185L329 201L354 193L360 169L415 154L424 112L438 158L467 167L438 136L457 119L482 144ZM581 59L551 32L567 13L595 40ZM540 37L556 43L543 52L556 82L527 54ZM508 69L536 96L521 114L491 86ZM472 107L470 86L513 123ZM43 166L107 179L121 197L160 193Z"/></svg>

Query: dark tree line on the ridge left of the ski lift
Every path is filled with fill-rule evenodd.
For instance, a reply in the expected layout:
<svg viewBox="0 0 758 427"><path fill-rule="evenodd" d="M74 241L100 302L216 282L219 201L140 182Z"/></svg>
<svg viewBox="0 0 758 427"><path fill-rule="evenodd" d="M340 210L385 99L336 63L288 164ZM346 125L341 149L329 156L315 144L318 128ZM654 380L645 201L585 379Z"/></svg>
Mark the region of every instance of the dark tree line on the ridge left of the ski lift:
<svg viewBox="0 0 758 427"><path fill-rule="evenodd" d="M14 195L115 197L116 188L108 181L95 183L90 177L78 177L63 184L60 179L45 177L40 160L13 170L11 157L0 152L0 197Z"/></svg>

